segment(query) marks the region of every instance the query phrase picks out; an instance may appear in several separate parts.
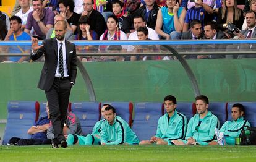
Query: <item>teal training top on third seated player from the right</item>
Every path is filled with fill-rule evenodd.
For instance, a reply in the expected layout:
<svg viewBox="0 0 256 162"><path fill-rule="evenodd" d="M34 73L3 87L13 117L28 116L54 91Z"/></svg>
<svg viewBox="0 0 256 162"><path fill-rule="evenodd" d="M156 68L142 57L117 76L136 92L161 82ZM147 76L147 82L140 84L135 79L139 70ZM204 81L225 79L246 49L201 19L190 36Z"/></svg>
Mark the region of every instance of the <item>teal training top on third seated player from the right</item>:
<svg viewBox="0 0 256 162"><path fill-rule="evenodd" d="M168 113L158 119L156 137L164 140L184 139L187 130L187 118L174 111L168 122Z"/></svg>

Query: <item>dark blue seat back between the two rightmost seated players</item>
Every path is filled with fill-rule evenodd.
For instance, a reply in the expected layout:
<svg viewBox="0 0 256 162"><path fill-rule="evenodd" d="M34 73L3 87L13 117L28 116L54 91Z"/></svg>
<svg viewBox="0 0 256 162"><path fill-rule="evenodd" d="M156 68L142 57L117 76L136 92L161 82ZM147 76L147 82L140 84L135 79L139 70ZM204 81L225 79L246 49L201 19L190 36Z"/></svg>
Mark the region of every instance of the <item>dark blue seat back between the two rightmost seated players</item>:
<svg viewBox="0 0 256 162"><path fill-rule="evenodd" d="M215 114L215 116L218 117L220 121L220 126L224 124L224 122L227 121L228 113L227 113L227 103L210 103L208 110L211 111L211 113Z"/></svg>

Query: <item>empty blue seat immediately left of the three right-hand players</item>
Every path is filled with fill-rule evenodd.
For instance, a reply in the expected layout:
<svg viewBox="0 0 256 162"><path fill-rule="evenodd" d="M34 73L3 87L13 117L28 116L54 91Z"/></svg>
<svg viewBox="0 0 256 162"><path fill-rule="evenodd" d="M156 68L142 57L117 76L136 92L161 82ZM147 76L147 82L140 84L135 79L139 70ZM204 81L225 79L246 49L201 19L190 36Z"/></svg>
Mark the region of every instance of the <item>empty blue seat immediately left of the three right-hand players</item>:
<svg viewBox="0 0 256 162"><path fill-rule="evenodd" d="M163 115L163 103L135 103L132 130L139 140L148 140L156 134L158 119Z"/></svg>

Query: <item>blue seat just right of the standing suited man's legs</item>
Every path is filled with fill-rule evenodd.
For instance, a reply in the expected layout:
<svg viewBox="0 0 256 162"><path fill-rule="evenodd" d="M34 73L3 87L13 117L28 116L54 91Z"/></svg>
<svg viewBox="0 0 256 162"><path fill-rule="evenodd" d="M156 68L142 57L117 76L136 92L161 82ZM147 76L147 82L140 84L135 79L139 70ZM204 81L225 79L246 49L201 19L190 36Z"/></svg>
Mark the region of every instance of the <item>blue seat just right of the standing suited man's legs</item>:
<svg viewBox="0 0 256 162"><path fill-rule="evenodd" d="M100 105L98 102L74 102L71 111L81 122L83 134L91 134L93 126L100 120Z"/></svg>

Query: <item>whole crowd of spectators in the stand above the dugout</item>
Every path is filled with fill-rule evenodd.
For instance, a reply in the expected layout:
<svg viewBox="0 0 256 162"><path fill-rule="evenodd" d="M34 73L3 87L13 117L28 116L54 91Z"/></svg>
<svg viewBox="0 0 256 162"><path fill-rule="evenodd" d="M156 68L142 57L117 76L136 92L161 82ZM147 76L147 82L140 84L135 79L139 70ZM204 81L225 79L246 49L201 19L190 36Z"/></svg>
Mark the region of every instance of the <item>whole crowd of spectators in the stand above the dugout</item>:
<svg viewBox="0 0 256 162"><path fill-rule="evenodd" d="M53 38L54 23L65 20L67 40L250 39L256 35L255 12L256 0L17 0L10 19L0 12L0 36L1 40L30 40L30 36L38 40ZM145 38L138 38L139 27L147 28ZM81 46L78 49L85 53L95 49L108 51L109 48L111 46ZM112 50L142 50L137 48L140 47L116 46ZM157 49L156 46L151 48ZM27 49L19 47L17 53L20 52L25 53ZM205 58L226 56L187 56L186 59ZM80 59L95 60L88 57ZM96 58L100 61L145 59L171 58ZM7 60L26 61L23 57Z"/></svg>

